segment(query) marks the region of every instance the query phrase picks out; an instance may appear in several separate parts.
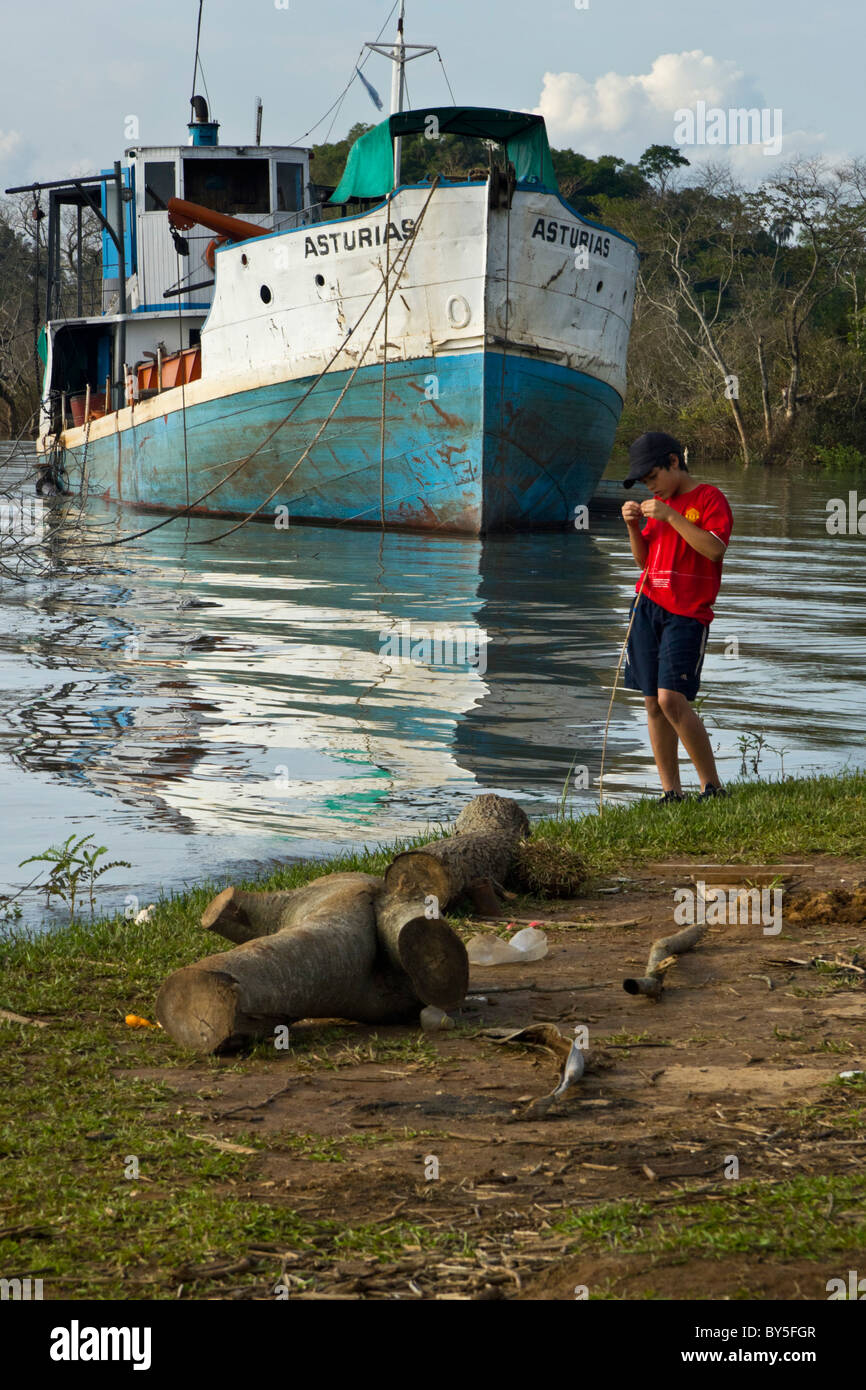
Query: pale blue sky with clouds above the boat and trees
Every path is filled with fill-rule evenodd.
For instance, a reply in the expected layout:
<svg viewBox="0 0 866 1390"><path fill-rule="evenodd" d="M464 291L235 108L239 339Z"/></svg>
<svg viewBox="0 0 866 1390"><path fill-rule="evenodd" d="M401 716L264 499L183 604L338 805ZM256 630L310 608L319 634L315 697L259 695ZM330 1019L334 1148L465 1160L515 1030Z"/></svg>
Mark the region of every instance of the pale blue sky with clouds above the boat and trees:
<svg viewBox="0 0 866 1390"><path fill-rule="evenodd" d="M222 142L252 140L256 96L264 142L303 136L389 10L391 0L204 0L202 61ZM196 15L197 0L8 3L0 186L111 163L131 143L131 115L140 143L183 143ZM671 143L674 111L705 100L780 110L783 160L840 158L866 154L865 15L860 0L588 0L582 10L574 0L407 0L406 38L439 46L457 101L541 110L553 145L587 154L637 158ZM389 67L375 56L364 67L386 108ZM435 57L407 74L413 106L448 103ZM375 118L356 81L332 138ZM749 177L776 163L760 146L685 154L731 157Z"/></svg>

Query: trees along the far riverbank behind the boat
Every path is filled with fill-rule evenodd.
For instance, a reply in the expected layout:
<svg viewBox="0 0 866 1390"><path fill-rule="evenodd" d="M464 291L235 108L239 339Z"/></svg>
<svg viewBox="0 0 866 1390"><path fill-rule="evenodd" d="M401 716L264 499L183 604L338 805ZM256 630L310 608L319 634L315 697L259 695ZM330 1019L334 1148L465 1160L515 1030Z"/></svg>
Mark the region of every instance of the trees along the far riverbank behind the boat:
<svg viewBox="0 0 866 1390"><path fill-rule="evenodd" d="M322 196L346 139L313 150ZM621 438L667 428L698 453L742 463L866 466L866 161L795 158L758 186L723 163L692 168L652 145L637 164L552 150L563 196L631 236L641 256ZM482 175L484 140L403 139L403 181ZM36 214L36 215L35 215ZM99 236L85 221L89 307L97 313ZM76 228L64 228L70 288ZM40 263L38 259L40 252ZM15 434L40 391L44 229L29 197L0 204L0 434Z"/></svg>

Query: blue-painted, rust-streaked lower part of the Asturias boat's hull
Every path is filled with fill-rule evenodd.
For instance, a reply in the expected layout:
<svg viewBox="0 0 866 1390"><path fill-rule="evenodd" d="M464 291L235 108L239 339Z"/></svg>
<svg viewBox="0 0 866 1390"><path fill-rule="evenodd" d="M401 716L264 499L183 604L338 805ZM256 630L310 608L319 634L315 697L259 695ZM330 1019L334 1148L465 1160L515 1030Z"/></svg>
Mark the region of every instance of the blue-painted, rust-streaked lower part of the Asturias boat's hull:
<svg viewBox="0 0 866 1390"><path fill-rule="evenodd" d="M261 517L288 507L291 523L379 525L381 366L360 368L295 467L348 378L328 374L282 425L313 378L235 391L92 439L88 488L215 516L246 516L272 492ZM473 535L567 524L595 491L621 404L584 373L500 352L389 363L385 524ZM79 464L82 452L71 450Z"/></svg>

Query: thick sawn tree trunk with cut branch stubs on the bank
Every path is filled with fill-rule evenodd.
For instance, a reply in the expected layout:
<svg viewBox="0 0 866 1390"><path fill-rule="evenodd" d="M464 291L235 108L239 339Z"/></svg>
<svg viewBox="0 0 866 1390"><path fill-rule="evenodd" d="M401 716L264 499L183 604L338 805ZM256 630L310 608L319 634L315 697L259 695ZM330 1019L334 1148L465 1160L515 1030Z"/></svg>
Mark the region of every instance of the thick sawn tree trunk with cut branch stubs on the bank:
<svg viewBox="0 0 866 1390"><path fill-rule="evenodd" d="M505 878L530 823L517 802L491 794L470 802L456 828L398 855L384 878L335 873L277 892L225 888L202 926L235 947L171 974L158 1022L183 1047L215 1052L297 1019L396 1023L425 1005L456 1008L468 959L441 908Z"/></svg>

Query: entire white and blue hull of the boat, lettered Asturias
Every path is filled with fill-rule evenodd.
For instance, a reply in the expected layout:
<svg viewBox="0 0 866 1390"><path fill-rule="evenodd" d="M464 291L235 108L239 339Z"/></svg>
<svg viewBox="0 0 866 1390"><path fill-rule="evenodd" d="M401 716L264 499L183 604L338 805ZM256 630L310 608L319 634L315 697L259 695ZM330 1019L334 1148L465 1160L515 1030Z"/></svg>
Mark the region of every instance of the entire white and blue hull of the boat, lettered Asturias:
<svg viewBox="0 0 866 1390"><path fill-rule="evenodd" d="M384 364L377 286L421 211ZM202 379L67 430L68 471L82 466L90 495L156 510L240 517L272 492L263 520L470 535L567 525L623 407L632 243L555 195L518 190L507 213L470 183L432 197L403 188L388 207L320 225L220 250ZM389 227L392 245L377 247Z"/></svg>

